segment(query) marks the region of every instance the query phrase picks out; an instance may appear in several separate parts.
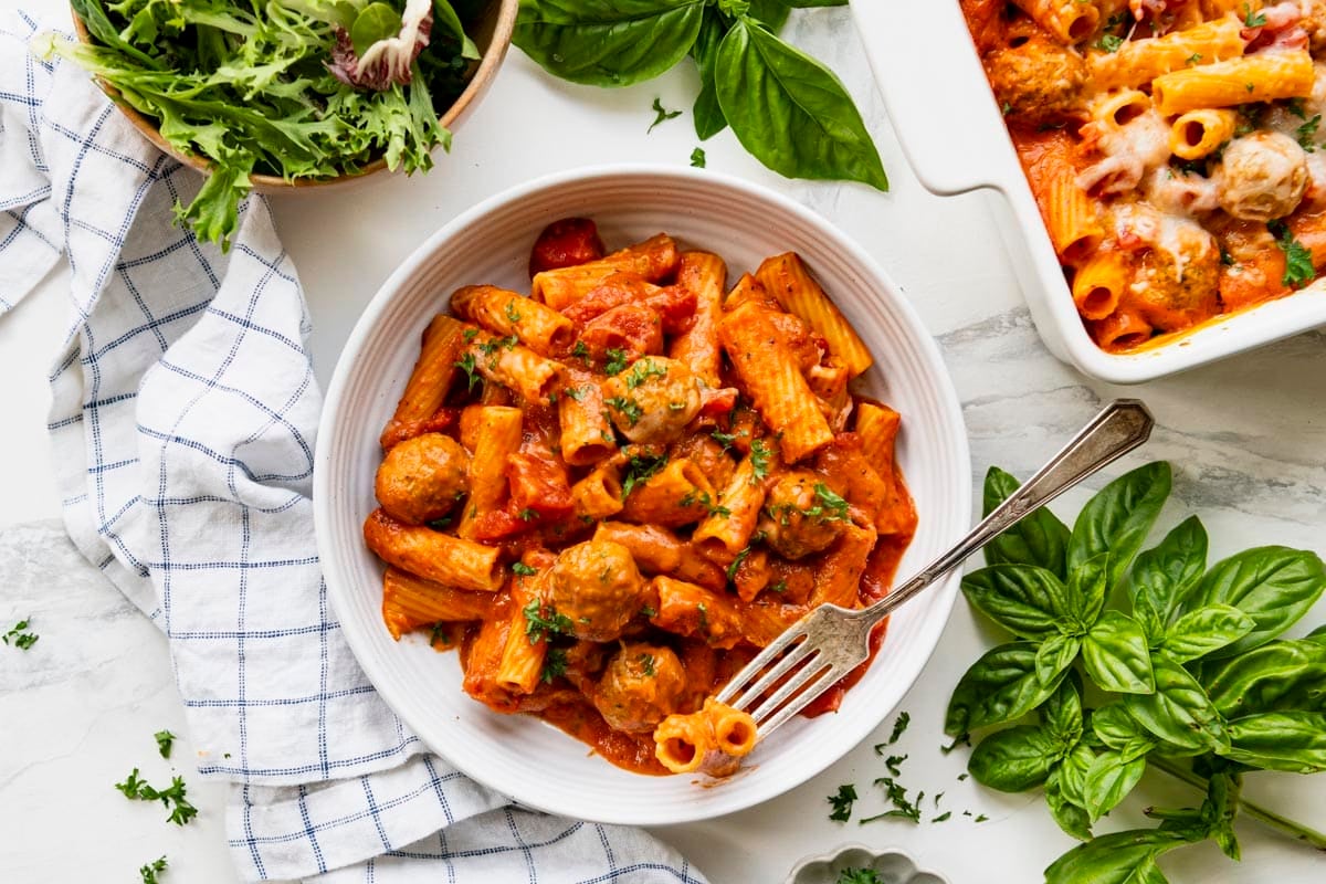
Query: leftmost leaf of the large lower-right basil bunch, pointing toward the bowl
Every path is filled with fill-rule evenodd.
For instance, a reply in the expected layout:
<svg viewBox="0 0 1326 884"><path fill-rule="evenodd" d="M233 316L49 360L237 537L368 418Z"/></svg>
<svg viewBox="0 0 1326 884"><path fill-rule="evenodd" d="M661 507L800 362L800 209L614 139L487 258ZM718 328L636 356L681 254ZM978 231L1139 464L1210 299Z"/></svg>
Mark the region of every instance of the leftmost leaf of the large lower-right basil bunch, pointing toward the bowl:
<svg viewBox="0 0 1326 884"><path fill-rule="evenodd" d="M944 732L959 737L980 728L1021 718L1058 688L1036 677L1036 645L1001 644L987 651L959 680L948 701Z"/></svg>

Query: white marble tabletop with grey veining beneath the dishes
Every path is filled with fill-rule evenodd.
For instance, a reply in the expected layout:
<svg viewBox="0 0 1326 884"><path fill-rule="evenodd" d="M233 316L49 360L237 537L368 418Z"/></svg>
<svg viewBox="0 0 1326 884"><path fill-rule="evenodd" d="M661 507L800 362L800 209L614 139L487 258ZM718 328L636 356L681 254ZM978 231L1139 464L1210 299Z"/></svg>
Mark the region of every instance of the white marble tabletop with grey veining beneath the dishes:
<svg viewBox="0 0 1326 884"><path fill-rule="evenodd" d="M20 0L0 0L0 7ZM57 0L24 0L62 15ZM988 464L1026 473L1074 431L1102 399L1143 396L1160 429L1144 449L1176 468L1174 525L1200 513L1215 554L1257 543L1326 553L1326 337L1302 335L1208 370L1122 391L1085 380L1048 355L1030 326L985 197L937 199L910 175L874 91L846 11L794 16L790 38L829 61L878 135L892 192L785 182L745 156L729 133L704 146L711 168L792 193L866 245L907 292L943 345L971 429L973 470ZM690 107L696 87L683 65L662 80L618 91L556 82L509 56L455 150L423 179L392 179L350 192L274 200L281 235L304 280L325 380L349 330L377 286L404 254L461 208L528 178L601 162L687 164L696 146L690 114L652 134L650 103ZM518 125L517 125L518 122ZM529 133L541 133L537 138ZM166 881L236 880L224 847L224 789L192 770L183 714L164 640L64 539L45 452L45 375L64 327L64 274L0 321L0 624L30 615L40 641L28 652L0 645L0 869L3 880L138 880L145 861L166 854ZM1128 464L1138 463L1134 457ZM973 485L976 478L973 477ZM1071 512L1086 492L1070 496ZM1326 604L1307 622L1326 620ZM1301 630L1299 630L1301 631ZM955 810L947 823L827 820L825 797L855 782L858 808L876 812L869 782L882 765L867 740L810 783L761 807L708 823L660 828L715 884L781 881L802 856L838 843L900 847L955 883L1040 880L1070 847L1037 797L1001 795L959 782L964 757L943 755L943 708L952 685L992 635L963 603L922 679L900 706L912 724L898 750L910 754L903 782ZM891 718L890 718L891 721ZM886 722L883 736L887 736ZM151 734L182 734L170 762ZM127 804L111 789L134 766L152 782L186 777L199 819L178 830L159 806ZM1292 816L1326 828L1322 781L1257 775L1249 791ZM1191 794L1148 777L1102 830L1146 824L1151 803ZM927 799L927 803L930 799ZM985 814L975 824L961 810ZM1203 846L1163 861L1176 883L1277 880L1319 883L1321 854L1242 823L1244 861Z"/></svg>

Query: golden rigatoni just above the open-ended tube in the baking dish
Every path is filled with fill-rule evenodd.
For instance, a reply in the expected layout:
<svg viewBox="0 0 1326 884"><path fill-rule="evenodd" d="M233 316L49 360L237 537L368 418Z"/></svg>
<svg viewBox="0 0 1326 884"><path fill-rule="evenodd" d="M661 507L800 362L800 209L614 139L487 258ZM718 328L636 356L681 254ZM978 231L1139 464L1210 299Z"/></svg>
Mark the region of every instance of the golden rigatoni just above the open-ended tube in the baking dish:
<svg viewBox="0 0 1326 884"><path fill-rule="evenodd" d="M1314 77L1306 49L1258 52L1156 77L1151 81L1151 99L1168 117L1201 107L1307 98Z"/></svg>

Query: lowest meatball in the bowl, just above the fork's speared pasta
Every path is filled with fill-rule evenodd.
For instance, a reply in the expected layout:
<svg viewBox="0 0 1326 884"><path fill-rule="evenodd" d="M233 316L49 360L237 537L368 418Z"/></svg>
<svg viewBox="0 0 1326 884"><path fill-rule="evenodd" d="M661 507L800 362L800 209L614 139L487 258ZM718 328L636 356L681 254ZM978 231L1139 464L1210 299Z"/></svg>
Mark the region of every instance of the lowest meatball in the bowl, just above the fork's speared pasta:
<svg viewBox="0 0 1326 884"><path fill-rule="evenodd" d="M686 669L671 648L623 644L594 691L594 708L614 730L650 732L678 710Z"/></svg>

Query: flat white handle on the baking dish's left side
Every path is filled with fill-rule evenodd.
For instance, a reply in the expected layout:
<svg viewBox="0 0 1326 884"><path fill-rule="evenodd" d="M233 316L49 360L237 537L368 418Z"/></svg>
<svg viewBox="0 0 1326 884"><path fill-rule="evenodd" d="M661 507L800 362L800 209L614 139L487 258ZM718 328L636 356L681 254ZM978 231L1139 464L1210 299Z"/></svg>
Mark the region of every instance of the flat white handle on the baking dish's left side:
<svg viewBox="0 0 1326 884"><path fill-rule="evenodd" d="M1020 174L957 0L851 7L894 133L927 190L964 193Z"/></svg>

